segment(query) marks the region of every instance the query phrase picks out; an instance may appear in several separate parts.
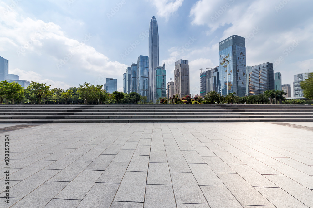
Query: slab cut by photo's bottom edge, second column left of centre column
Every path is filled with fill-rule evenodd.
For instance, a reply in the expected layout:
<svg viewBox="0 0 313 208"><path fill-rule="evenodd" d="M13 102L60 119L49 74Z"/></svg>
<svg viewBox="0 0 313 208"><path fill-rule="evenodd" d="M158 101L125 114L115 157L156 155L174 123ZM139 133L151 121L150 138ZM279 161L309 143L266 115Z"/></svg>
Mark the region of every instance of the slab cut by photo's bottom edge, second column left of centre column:
<svg viewBox="0 0 313 208"><path fill-rule="evenodd" d="M77 208L110 208L119 184L95 183Z"/></svg>

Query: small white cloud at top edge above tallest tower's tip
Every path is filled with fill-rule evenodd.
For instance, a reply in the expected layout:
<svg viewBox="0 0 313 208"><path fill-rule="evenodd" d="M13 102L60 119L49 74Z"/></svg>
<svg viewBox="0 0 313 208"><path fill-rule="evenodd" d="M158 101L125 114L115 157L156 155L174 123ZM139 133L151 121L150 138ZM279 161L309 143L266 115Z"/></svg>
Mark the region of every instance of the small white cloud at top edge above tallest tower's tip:
<svg viewBox="0 0 313 208"><path fill-rule="evenodd" d="M184 0L151 0L153 2L154 6L156 6L157 9L157 15L160 17L165 17L166 20L172 15L172 13L176 12L179 7L182 6L182 2Z"/></svg>

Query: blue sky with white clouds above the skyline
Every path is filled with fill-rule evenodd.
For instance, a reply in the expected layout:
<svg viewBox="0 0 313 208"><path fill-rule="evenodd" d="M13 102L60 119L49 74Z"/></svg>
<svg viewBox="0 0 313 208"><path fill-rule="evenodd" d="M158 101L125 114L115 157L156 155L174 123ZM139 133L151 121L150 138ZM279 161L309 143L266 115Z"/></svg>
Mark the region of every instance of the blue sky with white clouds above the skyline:
<svg viewBox="0 0 313 208"><path fill-rule="evenodd" d="M313 71L312 8L312 0L3 0L0 56L22 80L68 89L116 78L123 91L126 68L148 56L155 16L167 82L175 61L189 60L190 93L199 94L199 69L218 66L218 43L239 35L247 65L274 63L292 85Z"/></svg>

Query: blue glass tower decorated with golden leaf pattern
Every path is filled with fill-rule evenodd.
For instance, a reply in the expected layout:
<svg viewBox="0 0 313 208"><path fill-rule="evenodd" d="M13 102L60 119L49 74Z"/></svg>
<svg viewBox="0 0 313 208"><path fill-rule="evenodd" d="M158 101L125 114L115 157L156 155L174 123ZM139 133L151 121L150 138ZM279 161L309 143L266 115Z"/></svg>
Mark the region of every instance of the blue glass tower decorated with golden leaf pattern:
<svg viewBox="0 0 313 208"><path fill-rule="evenodd" d="M246 94L246 48L245 38L233 35L219 43L219 83L222 95L235 92Z"/></svg>

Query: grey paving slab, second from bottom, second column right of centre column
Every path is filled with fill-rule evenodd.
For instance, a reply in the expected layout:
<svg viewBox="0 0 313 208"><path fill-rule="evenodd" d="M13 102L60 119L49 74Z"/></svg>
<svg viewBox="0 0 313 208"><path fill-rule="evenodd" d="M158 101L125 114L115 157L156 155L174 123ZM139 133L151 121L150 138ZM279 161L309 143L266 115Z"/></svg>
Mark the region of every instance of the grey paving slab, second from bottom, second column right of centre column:
<svg viewBox="0 0 313 208"><path fill-rule="evenodd" d="M224 186L208 164L189 164L199 186Z"/></svg>

